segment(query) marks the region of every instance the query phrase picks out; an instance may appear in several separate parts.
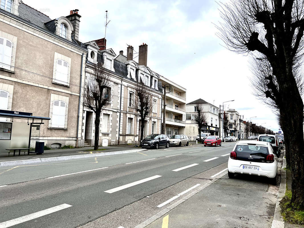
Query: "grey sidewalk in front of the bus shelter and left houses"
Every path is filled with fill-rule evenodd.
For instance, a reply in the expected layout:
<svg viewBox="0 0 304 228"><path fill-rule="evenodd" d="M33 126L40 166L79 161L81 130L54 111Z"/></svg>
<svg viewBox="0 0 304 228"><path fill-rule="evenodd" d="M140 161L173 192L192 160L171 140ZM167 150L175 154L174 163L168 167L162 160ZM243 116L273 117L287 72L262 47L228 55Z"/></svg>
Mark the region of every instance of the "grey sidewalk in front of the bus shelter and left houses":
<svg viewBox="0 0 304 228"><path fill-rule="evenodd" d="M100 149L104 149L104 150L100 150ZM94 147L52 149L52 150L44 150L43 154L29 154L29 155L27 155L27 151L25 154L23 151L21 151L20 156L18 156L18 152L16 152L15 156L13 156L12 152L9 155L8 153L0 154L0 162L28 160L33 158L61 157L61 156L80 155L80 154L96 154L96 153L113 152L113 151L121 151L121 150L135 150L135 149L139 149L139 148L134 147L134 145L119 145L119 146L99 147L98 151L93 151Z"/></svg>

